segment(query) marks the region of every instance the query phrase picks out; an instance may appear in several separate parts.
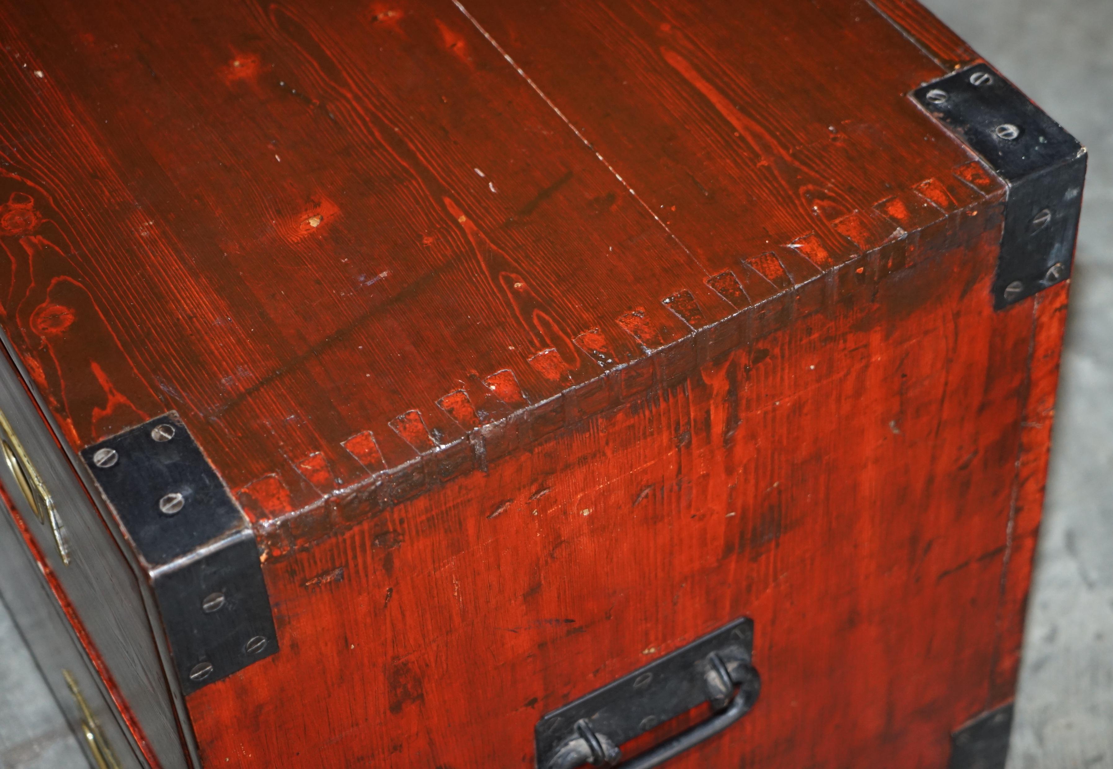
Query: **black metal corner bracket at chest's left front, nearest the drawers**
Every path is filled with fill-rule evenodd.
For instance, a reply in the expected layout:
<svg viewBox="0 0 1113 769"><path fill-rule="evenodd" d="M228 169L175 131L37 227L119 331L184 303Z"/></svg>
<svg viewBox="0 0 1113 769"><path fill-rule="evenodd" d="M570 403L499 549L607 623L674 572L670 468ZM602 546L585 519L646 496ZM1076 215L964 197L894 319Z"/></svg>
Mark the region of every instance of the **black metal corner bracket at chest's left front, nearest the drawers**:
<svg viewBox="0 0 1113 769"><path fill-rule="evenodd" d="M278 651L250 522L176 412L81 459L147 570L183 692Z"/></svg>

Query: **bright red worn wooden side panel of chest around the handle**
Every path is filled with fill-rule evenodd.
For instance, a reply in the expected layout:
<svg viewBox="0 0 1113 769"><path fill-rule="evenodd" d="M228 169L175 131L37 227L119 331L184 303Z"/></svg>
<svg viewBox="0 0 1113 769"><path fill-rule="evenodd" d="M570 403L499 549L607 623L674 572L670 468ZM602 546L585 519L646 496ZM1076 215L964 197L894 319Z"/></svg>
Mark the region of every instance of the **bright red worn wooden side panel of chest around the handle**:
<svg viewBox="0 0 1113 769"><path fill-rule="evenodd" d="M207 765L529 767L542 713L749 615L761 699L678 767L946 766L1011 687L1021 414L1060 329L987 302L999 214L948 216L823 312L268 561L283 652L190 696ZM225 728L243 712L258 728Z"/></svg>

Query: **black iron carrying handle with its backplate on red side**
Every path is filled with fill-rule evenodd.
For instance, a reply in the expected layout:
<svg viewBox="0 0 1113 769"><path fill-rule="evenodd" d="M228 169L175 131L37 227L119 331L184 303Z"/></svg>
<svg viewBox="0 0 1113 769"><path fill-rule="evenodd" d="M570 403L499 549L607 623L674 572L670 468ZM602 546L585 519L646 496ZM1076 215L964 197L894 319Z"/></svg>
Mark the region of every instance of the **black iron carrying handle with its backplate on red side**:
<svg viewBox="0 0 1113 769"><path fill-rule="evenodd" d="M538 769L614 767L620 747L705 702L715 714L618 769L650 769L749 712L761 690L750 664L754 622L735 620L629 676L545 713L534 728Z"/></svg>

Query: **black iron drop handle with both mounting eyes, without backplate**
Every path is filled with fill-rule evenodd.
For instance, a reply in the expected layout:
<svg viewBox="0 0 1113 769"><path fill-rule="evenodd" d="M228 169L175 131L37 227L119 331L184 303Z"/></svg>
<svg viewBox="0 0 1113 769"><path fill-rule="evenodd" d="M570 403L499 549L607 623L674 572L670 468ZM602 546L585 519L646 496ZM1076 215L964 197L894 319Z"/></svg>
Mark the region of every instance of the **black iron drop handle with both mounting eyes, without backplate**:
<svg viewBox="0 0 1113 769"><path fill-rule="evenodd" d="M761 691L761 677L758 671L752 666L740 664L731 674L716 653L708 655L706 667L707 672L703 674L703 681L707 687L708 700L719 712L669 738L653 749L622 762L617 769L659 767L689 748L718 735L749 712ZM738 686L738 692L733 698L730 698L735 686ZM574 769L584 763L595 767L615 767L622 751L607 735L595 733L587 719L577 722L575 732L577 737L561 746L556 755L545 765L545 769Z"/></svg>

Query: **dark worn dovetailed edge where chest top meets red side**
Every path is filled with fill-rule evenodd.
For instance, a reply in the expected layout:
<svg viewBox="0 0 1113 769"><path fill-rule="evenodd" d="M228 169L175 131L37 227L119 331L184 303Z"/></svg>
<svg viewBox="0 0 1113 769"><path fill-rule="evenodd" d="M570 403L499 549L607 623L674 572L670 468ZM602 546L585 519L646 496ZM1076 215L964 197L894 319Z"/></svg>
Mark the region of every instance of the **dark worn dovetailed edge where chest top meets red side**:
<svg viewBox="0 0 1113 769"><path fill-rule="evenodd" d="M372 433L354 435L345 446L377 472L313 504L284 511L289 492L277 474L264 476L237 492L240 504L254 522L263 559L283 559L309 549L456 476L485 471L490 462L529 446L544 435L617 408L652 388L678 384L707 361L752 344L797 318L839 303L854 302L856 297L871 296L889 275L915 265L923 250L918 247L922 240L929 241L961 217L1003 205L1004 189L999 177L976 160L955 168L948 179L925 179L912 190L897 193L874 206L869 214L884 217L895 227L881 243L856 243L857 228L853 223L845 224L844 234L857 252L841 264L815 265L821 257L808 253L808 234L786 244L779 250L787 254L776 257L781 264L786 260L791 264L788 254L792 254L815 268L796 280L782 282L781 286L762 275L759 260L740 259L737 272L720 273L707 279L708 287L736 307L733 314L721 321L700 324L689 319L698 307L692 309L695 302L687 292L662 298L667 308L689 324L689 333L669 344L654 346L652 339L640 337L639 318L620 318L619 324L644 351L640 359L623 365L613 365L613 361L608 363L605 349L591 349L592 332L589 329L577 337L577 343L603 363L605 369L600 376L568 387L555 396L531 402L529 394L518 386L513 372L496 372L487 377L486 385L506 410L499 418L487 422L475 416L476 410L467 395L461 394L463 391L446 394L440 401L442 410L465 431L463 437L452 442L437 443L424 431L420 412L412 410L403 415L405 418L398 417L395 430L402 434L400 427L404 423L405 430L424 431L420 438L411 438L412 445L422 448L417 457L398 466L382 466ZM757 266L751 266L750 262ZM992 299L986 297L986 300ZM689 317L686 318L686 314ZM453 403L454 396L463 403ZM353 442L358 444L358 450L349 445ZM375 467L372 463L380 464Z"/></svg>

